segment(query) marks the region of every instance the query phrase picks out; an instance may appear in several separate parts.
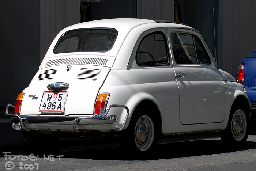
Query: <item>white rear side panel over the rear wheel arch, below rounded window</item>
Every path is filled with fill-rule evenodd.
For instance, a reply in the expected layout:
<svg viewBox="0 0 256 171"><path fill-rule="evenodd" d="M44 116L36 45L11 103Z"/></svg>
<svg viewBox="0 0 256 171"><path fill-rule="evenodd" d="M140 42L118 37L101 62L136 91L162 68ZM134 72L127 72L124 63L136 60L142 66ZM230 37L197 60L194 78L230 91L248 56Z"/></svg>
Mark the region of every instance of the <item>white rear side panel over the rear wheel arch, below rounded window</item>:
<svg viewBox="0 0 256 171"><path fill-rule="evenodd" d="M178 86L170 67L111 70L100 90L106 91L110 93L108 105L126 105L131 112L129 118L139 102L151 100L161 113L164 133L170 132L170 121L179 123L178 117L174 117L178 116Z"/></svg>

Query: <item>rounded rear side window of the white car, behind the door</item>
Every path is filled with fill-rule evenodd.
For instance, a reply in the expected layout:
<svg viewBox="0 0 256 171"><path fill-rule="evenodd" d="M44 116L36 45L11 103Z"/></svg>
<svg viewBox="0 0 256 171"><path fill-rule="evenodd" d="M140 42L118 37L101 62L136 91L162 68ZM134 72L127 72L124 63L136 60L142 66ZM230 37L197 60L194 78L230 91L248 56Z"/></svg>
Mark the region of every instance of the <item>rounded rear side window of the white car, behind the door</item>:
<svg viewBox="0 0 256 171"><path fill-rule="evenodd" d="M136 62L139 66L162 66L169 64L165 34L154 32L146 35L139 44Z"/></svg>

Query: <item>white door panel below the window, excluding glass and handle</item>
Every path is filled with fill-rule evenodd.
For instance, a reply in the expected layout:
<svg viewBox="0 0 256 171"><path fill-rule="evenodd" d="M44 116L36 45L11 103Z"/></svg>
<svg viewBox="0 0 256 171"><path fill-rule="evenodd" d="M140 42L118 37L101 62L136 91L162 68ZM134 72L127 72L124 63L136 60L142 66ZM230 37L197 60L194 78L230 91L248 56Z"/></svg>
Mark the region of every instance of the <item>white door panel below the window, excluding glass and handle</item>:
<svg viewBox="0 0 256 171"><path fill-rule="evenodd" d="M226 90L217 69L174 67L180 91L180 122L182 124L222 122L226 116Z"/></svg>

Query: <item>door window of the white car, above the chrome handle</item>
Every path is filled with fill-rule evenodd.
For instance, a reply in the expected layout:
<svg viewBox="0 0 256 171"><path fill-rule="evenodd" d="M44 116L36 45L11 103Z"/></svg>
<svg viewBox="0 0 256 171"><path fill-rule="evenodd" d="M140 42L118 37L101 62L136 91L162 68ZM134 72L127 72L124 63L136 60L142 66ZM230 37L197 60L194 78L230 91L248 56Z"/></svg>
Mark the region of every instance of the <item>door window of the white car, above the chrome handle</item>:
<svg viewBox="0 0 256 171"><path fill-rule="evenodd" d="M210 57L196 36L172 33L171 42L177 64L211 64Z"/></svg>

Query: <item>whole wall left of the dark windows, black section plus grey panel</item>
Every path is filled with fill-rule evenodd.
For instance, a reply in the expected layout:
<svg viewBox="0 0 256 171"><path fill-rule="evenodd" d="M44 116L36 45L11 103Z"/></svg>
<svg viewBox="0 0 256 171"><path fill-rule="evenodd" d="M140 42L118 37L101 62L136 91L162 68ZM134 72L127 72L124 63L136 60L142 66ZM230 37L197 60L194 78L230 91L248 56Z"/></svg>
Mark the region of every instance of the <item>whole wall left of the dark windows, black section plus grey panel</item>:
<svg viewBox="0 0 256 171"><path fill-rule="evenodd" d="M79 23L79 0L0 1L0 107L14 104L54 37Z"/></svg>

